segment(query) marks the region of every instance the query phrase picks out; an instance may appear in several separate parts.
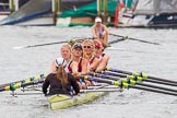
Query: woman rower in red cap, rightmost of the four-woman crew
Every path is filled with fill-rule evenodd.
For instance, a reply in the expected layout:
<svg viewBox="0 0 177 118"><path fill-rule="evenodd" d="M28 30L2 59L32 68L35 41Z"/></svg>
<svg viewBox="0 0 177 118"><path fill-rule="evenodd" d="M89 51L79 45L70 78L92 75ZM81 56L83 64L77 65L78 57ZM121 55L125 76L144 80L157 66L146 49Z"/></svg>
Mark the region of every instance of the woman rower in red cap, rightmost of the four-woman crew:
<svg viewBox="0 0 177 118"><path fill-rule="evenodd" d="M109 56L104 54L104 47L99 40L94 40L95 43L95 56L99 60L99 64L96 68L96 71L102 71L105 70L108 61L109 61Z"/></svg>

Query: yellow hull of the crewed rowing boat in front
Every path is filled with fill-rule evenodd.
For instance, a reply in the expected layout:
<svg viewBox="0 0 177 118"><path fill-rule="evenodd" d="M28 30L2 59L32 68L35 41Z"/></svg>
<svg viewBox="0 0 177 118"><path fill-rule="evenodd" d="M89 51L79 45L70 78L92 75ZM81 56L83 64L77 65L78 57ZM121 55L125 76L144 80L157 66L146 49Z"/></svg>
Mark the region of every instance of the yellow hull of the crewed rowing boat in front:
<svg viewBox="0 0 177 118"><path fill-rule="evenodd" d="M47 97L47 101L49 103L49 107L52 110L63 109L63 108L72 107L72 106L86 104L102 96L105 96L108 92L102 91L103 88L104 87L101 88L101 87L95 86L92 88L93 91L83 90L79 95L75 95L75 96L69 96L69 95L63 95L63 94L52 95L52 96ZM117 90L117 92L119 90Z"/></svg>

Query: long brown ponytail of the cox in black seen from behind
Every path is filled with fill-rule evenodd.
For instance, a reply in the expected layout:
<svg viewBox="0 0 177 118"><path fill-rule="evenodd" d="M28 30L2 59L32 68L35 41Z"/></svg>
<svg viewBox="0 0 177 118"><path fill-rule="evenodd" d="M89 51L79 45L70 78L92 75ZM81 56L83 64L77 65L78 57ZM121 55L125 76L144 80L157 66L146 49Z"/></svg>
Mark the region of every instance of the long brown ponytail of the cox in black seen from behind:
<svg viewBox="0 0 177 118"><path fill-rule="evenodd" d="M68 84L68 74L64 70L64 67L62 64L60 64L59 67L57 67L57 74L56 74L57 79L61 81L62 85L67 85Z"/></svg>

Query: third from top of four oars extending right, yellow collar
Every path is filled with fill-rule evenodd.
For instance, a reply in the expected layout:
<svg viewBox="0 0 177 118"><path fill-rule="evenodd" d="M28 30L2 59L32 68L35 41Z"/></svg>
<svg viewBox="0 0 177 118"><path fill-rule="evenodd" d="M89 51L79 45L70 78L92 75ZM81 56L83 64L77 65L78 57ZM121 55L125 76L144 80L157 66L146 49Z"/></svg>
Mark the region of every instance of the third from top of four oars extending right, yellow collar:
<svg viewBox="0 0 177 118"><path fill-rule="evenodd" d="M160 88L160 90L169 91L169 92L177 92L177 90L174 90L174 88L162 87L162 86L157 86L157 85L142 83L142 81L139 81L139 80L134 81L134 80L131 80L129 78L115 78L113 75L105 75L105 74L93 73L93 72L90 72L90 75L94 75L94 76L98 76L98 78L104 78L104 79L110 79L110 80L114 80L114 81L121 80L122 82L126 82L126 83L129 83L129 84L133 84L133 85L142 85L142 86Z"/></svg>

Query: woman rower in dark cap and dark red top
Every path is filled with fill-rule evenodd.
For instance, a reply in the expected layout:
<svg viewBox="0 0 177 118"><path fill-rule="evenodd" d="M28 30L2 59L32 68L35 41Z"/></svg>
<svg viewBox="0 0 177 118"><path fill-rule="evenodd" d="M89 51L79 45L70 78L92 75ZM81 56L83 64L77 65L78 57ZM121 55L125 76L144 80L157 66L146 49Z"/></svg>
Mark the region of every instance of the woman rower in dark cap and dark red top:
<svg viewBox="0 0 177 118"><path fill-rule="evenodd" d="M76 76L79 81L80 88L86 88L84 81L80 79L82 74L87 73L87 60L84 59L82 55L83 55L82 45L80 43L75 43L72 46L71 59L78 63L78 72L73 74Z"/></svg>

